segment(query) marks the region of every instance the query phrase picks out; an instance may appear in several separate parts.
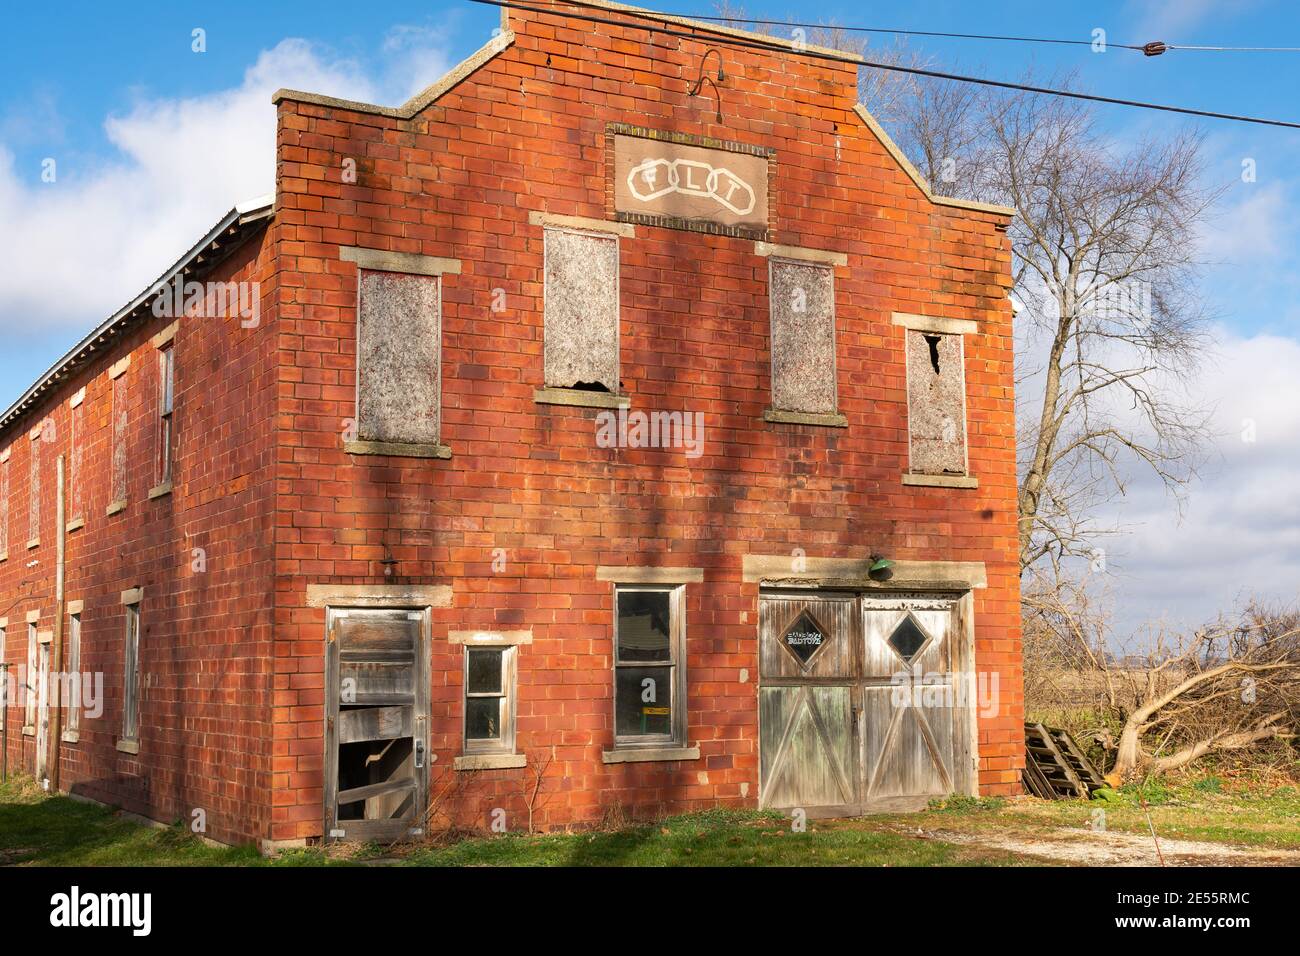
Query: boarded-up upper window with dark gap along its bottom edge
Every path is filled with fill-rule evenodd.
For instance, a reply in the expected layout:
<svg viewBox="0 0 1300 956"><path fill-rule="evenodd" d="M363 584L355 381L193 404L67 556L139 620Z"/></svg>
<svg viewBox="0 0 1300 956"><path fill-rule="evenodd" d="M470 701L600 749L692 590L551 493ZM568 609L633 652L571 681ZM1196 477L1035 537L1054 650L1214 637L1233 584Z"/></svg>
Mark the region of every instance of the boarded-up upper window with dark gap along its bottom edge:
<svg viewBox="0 0 1300 956"><path fill-rule="evenodd" d="M619 392L619 239L547 229L546 385Z"/></svg>

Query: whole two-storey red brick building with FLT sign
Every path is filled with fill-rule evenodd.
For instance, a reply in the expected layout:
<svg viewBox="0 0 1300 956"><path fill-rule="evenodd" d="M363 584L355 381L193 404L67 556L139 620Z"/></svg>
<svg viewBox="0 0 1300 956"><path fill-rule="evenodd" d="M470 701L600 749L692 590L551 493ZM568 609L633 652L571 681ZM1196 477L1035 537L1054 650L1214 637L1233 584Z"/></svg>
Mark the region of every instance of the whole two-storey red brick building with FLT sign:
<svg viewBox="0 0 1300 956"><path fill-rule="evenodd" d="M278 92L0 418L10 767L228 842L1018 788L1010 211L850 56L541 5Z"/></svg>

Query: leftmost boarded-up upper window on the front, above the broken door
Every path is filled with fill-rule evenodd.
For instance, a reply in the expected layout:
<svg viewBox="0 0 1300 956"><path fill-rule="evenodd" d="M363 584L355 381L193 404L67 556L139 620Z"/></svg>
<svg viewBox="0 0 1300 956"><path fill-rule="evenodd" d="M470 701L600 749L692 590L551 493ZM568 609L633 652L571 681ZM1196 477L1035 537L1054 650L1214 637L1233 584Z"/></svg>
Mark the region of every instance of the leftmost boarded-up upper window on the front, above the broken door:
<svg viewBox="0 0 1300 956"><path fill-rule="evenodd" d="M442 411L439 278L361 269L359 295L358 436L436 445Z"/></svg>

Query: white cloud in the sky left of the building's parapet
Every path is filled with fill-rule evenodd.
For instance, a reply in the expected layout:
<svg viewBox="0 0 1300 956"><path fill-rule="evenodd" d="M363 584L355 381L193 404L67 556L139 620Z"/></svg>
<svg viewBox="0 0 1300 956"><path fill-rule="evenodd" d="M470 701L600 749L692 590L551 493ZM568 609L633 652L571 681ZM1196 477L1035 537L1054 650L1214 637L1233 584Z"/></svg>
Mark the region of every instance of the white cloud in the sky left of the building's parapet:
<svg viewBox="0 0 1300 956"><path fill-rule="evenodd" d="M286 39L264 51L238 86L143 100L105 120L114 157L75 176L68 160L53 183L23 182L0 143L0 329L66 333L70 343L157 278L237 202L269 193L274 90L400 103L445 72L439 33L393 35L377 78L355 60Z"/></svg>

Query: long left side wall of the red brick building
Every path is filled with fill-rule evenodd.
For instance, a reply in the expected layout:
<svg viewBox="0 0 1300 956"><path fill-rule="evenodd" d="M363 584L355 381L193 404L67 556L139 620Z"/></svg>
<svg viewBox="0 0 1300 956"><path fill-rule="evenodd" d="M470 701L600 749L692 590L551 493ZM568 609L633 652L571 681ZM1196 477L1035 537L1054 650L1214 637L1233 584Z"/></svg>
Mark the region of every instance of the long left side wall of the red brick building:
<svg viewBox="0 0 1300 956"><path fill-rule="evenodd" d="M60 741L61 788L166 822L191 825L202 812L204 832L225 842L264 838L269 825L278 381L276 351L266 342L276 334L274 250L272 234L259 229L205 280L248 289L259 282L264 308L256 328L244 328L240 323L251 320L238 315L174 320L151 313L0 436L0 453L10 454L0 617L8 618L5 659L16 665L14 678L26 670L29 613L38 614L42 632L55 630L60 455L66 467L65 598L81 614L81 671L95 700L84 698L75 732ZM159 346L173 323L166 490L159 463ZM78 393L74 433L70 399ZM118 414L125 420L114 428ZM29 438L30 429L39 429L38 440ZM114 466L118 433L125 454ZM39 455L39 544L29 548L32 455ZM135 588L138 745L122 739L124 592ZM65 669L69 644L65 615ZM36 734L21 731L22 717L12 700L9 766L32 773ZM66 711L62 724L66 731Z"/></svg>

